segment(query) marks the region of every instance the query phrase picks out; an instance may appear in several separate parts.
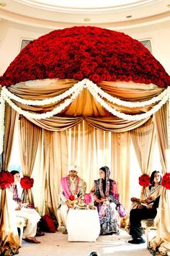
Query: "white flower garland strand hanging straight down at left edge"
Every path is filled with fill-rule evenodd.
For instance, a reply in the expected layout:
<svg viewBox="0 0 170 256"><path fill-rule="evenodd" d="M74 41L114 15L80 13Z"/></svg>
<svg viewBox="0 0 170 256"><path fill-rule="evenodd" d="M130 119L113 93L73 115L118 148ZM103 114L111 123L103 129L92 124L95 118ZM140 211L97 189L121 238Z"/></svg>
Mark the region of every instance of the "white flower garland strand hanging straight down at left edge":
<svg viewBox="0 0 170 256"><path fill-rule="evenodd" d="M3 152L4 146L4 117L5 117L5 101L3 96L0 97L1 104L0 104L0 155Z"/></svg>

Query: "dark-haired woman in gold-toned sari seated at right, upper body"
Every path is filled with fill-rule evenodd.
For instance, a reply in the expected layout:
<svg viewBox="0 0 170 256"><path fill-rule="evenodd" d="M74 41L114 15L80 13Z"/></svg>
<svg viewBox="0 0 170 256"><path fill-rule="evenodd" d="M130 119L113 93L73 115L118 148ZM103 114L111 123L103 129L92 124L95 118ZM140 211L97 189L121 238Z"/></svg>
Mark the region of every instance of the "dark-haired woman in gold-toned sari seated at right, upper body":
<svg viewBox="0 0 170 256"><path fill-rule="evenodd" d="M151 186L146 189L146 199L140 200L139 198L132 197L133 202L131 209L143 208L145 205L149 205L156 200L156 197L161 195L161 174L159 171L153 171L150 177Z"/></svg>

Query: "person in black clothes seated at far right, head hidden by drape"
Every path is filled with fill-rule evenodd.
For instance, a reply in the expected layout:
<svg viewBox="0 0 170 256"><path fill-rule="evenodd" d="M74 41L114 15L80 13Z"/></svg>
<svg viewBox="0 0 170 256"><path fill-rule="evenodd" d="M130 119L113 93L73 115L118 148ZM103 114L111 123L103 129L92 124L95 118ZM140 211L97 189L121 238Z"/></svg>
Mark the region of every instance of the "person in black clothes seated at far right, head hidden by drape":
<svg viewBox="0 0 170 256"><path fill-rule="evenodd" d="M160 195L156 197L152 205L148 205L146 208L130 210L130 235L133 237L133 240L128 241L128 243L143 244L146 242L142 237L143 232L140 221L156 217L159 198Z"/></svg>

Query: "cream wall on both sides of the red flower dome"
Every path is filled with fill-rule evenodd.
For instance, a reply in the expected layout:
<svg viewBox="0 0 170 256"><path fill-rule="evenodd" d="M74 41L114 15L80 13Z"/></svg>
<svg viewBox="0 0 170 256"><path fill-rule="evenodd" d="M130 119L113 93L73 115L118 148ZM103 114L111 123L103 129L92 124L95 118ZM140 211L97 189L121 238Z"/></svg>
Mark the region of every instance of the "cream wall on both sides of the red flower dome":
<svg viewBox="0 0 170 256"><path fill-rule="evenodd" d="M102 25L104 27L104 25ZM61 28L61 27L60 27ZM58 29L58 27L56 27ZM0 75L19 54L22 39L35 39L49 33L51 30L41 27L21 25L6 20L0 22ZM150 39L152 54L170 74L170 21L145 27L135 27L121 30L132 38Z"/></svg>

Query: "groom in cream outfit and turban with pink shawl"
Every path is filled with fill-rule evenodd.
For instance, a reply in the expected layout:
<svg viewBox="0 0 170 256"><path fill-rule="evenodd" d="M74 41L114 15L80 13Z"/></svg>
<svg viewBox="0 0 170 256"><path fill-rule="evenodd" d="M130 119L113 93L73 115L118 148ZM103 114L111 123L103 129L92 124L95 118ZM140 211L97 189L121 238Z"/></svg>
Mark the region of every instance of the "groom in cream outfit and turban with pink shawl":
<svg viewBox="0 0 170 256"><path fill-rule="evenodd" d="M69 174L61 179L60 199L61 199L61 220L66 228L67 214L69 208L71 208L71 202L69 197L74 195L79 197L84 195L86 191L86 182L80 179L77 175L77 166L69 166ZM63 231L63 234L67 234L67 229Z"/></svg>

